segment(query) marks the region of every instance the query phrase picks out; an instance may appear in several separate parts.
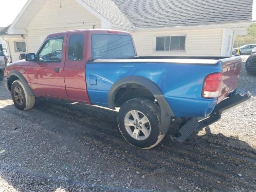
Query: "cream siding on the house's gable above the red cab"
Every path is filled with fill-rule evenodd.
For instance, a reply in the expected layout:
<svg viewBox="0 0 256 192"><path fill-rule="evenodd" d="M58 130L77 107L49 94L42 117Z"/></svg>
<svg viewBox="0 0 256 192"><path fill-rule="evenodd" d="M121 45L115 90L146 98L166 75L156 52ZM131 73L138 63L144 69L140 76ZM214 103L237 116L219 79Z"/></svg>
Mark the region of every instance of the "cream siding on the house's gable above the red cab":
<svg viewBox="0 0 256 192"><path fill-rule="evenodd" d="M96 16L75 0L46 0L42 8L26 27L28 52L37 52L50 33L101 27Z"/></svg>

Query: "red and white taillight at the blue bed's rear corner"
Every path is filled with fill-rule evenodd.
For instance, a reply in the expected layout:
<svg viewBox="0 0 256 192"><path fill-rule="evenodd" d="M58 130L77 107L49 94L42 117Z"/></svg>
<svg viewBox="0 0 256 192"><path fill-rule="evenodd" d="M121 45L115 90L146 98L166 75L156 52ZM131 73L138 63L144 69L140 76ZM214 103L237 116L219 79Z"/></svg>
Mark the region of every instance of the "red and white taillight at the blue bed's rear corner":
<svg viewBox="0 0 256 192"><path fill-rule="evenodd" d="M220 85L222 81L222 73L213 73L206 76L202 90L203 98L218 97Z"/></svg>

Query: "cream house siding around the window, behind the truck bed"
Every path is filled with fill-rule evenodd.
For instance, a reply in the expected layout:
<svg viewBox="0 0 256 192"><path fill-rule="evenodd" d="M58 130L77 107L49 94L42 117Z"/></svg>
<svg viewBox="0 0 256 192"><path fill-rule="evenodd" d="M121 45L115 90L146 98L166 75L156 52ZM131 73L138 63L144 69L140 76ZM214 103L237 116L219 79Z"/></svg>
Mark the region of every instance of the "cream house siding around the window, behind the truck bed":
<svg viewBox="0 0 256 192"><path fill-rule="evenodd" d="M191 55L220 56L222 43L222 28L204 30L172 30L152 32L132 32L136 50L139 56L152 55ZM156 52L156 36L186 35L186 51Z"/></svg>

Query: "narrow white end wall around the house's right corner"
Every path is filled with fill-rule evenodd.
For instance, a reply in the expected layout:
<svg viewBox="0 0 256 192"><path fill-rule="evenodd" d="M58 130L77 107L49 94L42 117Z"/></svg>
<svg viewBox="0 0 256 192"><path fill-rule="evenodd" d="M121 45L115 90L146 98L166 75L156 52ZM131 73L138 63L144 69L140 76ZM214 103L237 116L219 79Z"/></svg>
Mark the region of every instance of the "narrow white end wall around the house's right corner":
<svg viewBox="0 0 256 192"><path fill-rule="evenodd" d="M233 44L234 30L231 28L223 29L222 35L222 47L221 56L231 56L232 44Z"/></svg>

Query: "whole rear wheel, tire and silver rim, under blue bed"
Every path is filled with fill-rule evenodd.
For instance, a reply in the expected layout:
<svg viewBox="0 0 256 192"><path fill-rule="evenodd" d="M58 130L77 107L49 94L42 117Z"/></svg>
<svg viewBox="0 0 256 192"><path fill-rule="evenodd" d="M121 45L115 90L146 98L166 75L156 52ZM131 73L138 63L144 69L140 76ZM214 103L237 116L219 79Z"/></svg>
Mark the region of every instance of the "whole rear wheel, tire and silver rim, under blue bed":
<svg viewBox="0 0 256 192"><path fill-rule="evenodd" d="M160 134L160 107L145 98L134 98L121 106L118 126L128 143L142 149L153 148L165 135Z"/></svg>

